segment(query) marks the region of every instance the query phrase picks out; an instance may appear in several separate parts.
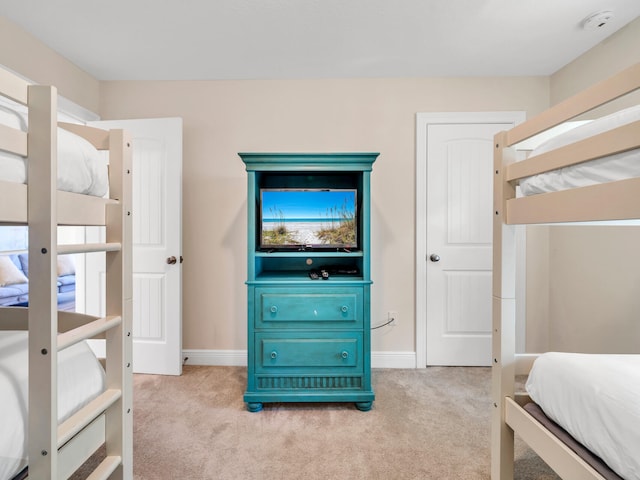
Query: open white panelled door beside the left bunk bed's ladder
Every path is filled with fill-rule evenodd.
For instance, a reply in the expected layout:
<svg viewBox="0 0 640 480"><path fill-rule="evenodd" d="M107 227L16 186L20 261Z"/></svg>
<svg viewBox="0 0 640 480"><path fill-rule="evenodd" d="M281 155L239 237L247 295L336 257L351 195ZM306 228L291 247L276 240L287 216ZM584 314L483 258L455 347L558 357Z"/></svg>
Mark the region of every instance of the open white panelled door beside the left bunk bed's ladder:
<svg viewBox="0 0 640 480"><path fill-rule="evenodd" d="M182 119L91 125L123 128L133 139L133 371L180 375ZM87 256L86 311L104 315L104 256L94 255Z"/></svg>

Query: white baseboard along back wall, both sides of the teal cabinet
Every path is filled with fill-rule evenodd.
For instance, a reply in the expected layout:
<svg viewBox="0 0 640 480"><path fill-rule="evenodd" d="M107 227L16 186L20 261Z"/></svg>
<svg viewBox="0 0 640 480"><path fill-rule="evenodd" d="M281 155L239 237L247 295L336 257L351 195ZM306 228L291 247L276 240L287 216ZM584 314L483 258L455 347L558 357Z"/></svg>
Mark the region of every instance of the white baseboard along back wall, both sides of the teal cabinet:
<svg viewBox="0 0 640 480"><path fill-rule="evenodd" d="M185 365L246 367L246 350L183 350ZM416 368L415 352L371 352L372 368Z"/></svg>

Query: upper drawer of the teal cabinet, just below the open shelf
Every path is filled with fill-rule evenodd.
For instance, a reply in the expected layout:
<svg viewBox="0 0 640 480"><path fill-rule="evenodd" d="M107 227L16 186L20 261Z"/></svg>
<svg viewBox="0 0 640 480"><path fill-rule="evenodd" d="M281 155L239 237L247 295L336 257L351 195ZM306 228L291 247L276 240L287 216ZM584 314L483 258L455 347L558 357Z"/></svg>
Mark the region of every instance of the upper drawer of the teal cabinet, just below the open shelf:
<svg viewBox="0 0 640 480"><path fill-rule="evenodd" d="M360 287L266 287L255 291L257 328L362 326L363 289Z"/></svg>

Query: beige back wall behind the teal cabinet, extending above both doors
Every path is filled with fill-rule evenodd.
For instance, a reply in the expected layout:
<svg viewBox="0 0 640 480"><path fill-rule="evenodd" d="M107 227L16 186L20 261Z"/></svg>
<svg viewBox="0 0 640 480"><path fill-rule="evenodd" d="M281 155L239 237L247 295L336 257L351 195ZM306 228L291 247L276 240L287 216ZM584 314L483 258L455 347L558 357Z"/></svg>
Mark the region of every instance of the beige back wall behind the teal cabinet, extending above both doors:
<svg viewBox="0 0 640 480"><path fill-rule="evenodd" d="M184 120L184 347L246 348L240 151L379 151L372 174L374 351L415 351L417 112L547 106L546 78L106 82L104 118Z"/></svg>

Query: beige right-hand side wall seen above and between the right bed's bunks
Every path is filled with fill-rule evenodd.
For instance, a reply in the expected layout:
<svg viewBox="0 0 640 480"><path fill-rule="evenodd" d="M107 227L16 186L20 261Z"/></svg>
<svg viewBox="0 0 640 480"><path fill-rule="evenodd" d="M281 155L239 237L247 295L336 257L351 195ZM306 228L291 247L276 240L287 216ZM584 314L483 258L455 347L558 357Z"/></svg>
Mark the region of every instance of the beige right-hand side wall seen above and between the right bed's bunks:
<svg viewBox="0 0 640 480"><path fill-rule="evenodd" d="M640 19L552 75L552 103L640 62L638 45ZM527 305L527 349L640 352L640 227L529 227L532 235L528 273L539 288Z"/></svg>

